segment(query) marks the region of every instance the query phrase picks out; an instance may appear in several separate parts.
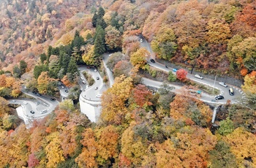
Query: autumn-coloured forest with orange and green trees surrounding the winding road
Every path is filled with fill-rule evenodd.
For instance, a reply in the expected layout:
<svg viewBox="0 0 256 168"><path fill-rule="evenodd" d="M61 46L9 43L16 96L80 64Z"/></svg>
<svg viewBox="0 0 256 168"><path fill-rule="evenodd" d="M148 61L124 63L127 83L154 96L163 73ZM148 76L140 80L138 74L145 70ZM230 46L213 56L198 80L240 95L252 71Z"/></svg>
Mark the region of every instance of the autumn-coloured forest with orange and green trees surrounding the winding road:
<svg viewBox="0 0 256 168"><path fill-rule="evenodd" d="M248 0L0 1L0 167L256 167L256 2ZM158 59L209 75L244 80L243 104L211 108L141 72L190 83L186 71L146 63L143 35ZM91 123L80 113L78 66L108 67L116 77ZM69 97L26 129L7 99L29 91Z"/></svg>

